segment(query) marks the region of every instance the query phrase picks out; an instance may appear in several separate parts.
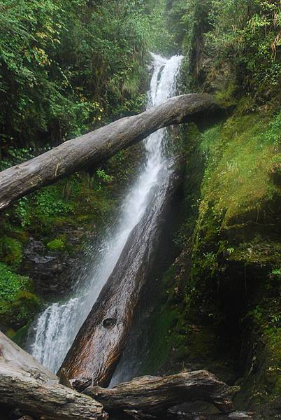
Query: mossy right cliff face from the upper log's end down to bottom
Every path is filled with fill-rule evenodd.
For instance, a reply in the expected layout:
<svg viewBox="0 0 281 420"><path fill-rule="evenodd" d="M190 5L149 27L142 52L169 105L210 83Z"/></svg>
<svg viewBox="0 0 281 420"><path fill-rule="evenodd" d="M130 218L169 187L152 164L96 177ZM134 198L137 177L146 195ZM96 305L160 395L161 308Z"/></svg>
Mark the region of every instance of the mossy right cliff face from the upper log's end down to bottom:
<svg viewBox="0 0 281 420"><path fill-rule="evenodd" d="M238 380L238 407L264 418L280 395L280 132L280 113L252 113L247 98L224 123L191 132L201 145L187 153L182 253L162 280L145 365Z"/></svg>

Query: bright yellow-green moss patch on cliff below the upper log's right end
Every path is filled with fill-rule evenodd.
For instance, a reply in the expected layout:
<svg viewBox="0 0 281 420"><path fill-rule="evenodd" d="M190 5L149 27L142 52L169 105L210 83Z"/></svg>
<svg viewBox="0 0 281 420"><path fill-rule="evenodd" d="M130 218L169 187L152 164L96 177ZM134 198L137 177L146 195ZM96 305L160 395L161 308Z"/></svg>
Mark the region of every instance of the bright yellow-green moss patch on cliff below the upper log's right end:
<svg viewBox="0 0 281 420"><path fill-rule="evenodd" d="M281 113L269 119L259 113L234 115L203 134L207 158L201 214L212 204L222 225L271 200L280 190L271 179L281 132ZM254 182L253 182L254 180Z"/></svg>

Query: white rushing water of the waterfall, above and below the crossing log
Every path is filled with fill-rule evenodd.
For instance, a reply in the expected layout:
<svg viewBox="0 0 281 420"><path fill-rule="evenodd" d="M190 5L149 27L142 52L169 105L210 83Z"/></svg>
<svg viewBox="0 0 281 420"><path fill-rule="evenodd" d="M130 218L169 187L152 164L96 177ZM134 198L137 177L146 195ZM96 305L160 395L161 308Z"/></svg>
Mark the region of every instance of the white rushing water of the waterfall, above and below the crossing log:
<svg viewBox="0 0 281 420"><path fill-rule="evenodd" d="M164 59L152 54L153 73L147 108L159 105L175 94L181 56ZM54 303L38 317L31 335L29 351L43 365L56 372L62 364L75 335L92 309L101 288L113 271L131 230L141 221L152 197L150 190L161 186L171 162L165 157L166 128L145 139L146 162L140 176L130 188L120 208L120 218L108 229L101 246L95 249L96 258L87 281L82 282L68 302Z"/></svg>

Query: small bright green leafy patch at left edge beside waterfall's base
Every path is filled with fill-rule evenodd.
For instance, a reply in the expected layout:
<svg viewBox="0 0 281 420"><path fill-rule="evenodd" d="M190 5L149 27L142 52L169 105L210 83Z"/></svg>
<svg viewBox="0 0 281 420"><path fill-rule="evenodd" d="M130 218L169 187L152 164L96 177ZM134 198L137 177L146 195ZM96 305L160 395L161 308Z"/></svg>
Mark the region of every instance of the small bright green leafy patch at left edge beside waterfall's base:
<svg viewBox="0 0 281 420"><path fill-rule="evenodd" d="M30 280L15 274L6 264L0 262L0 301L13 302L20 290L29 290Z"/></svg>

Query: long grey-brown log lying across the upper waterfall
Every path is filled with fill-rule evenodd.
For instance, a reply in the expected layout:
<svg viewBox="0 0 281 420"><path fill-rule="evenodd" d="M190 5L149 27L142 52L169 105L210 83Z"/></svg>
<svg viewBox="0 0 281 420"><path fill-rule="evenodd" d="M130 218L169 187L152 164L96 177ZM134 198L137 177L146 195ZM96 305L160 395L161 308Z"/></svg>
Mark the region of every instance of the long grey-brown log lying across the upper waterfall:
<svg viewBox="0 0 281 420"><path fill-rule="evenodd" d="M0 173L0 209L41 186L81 167L110 158L149 134L171 124L204 119L217 106L208 94L183 94L137 116L122 118L94 132Z"/></svg>

